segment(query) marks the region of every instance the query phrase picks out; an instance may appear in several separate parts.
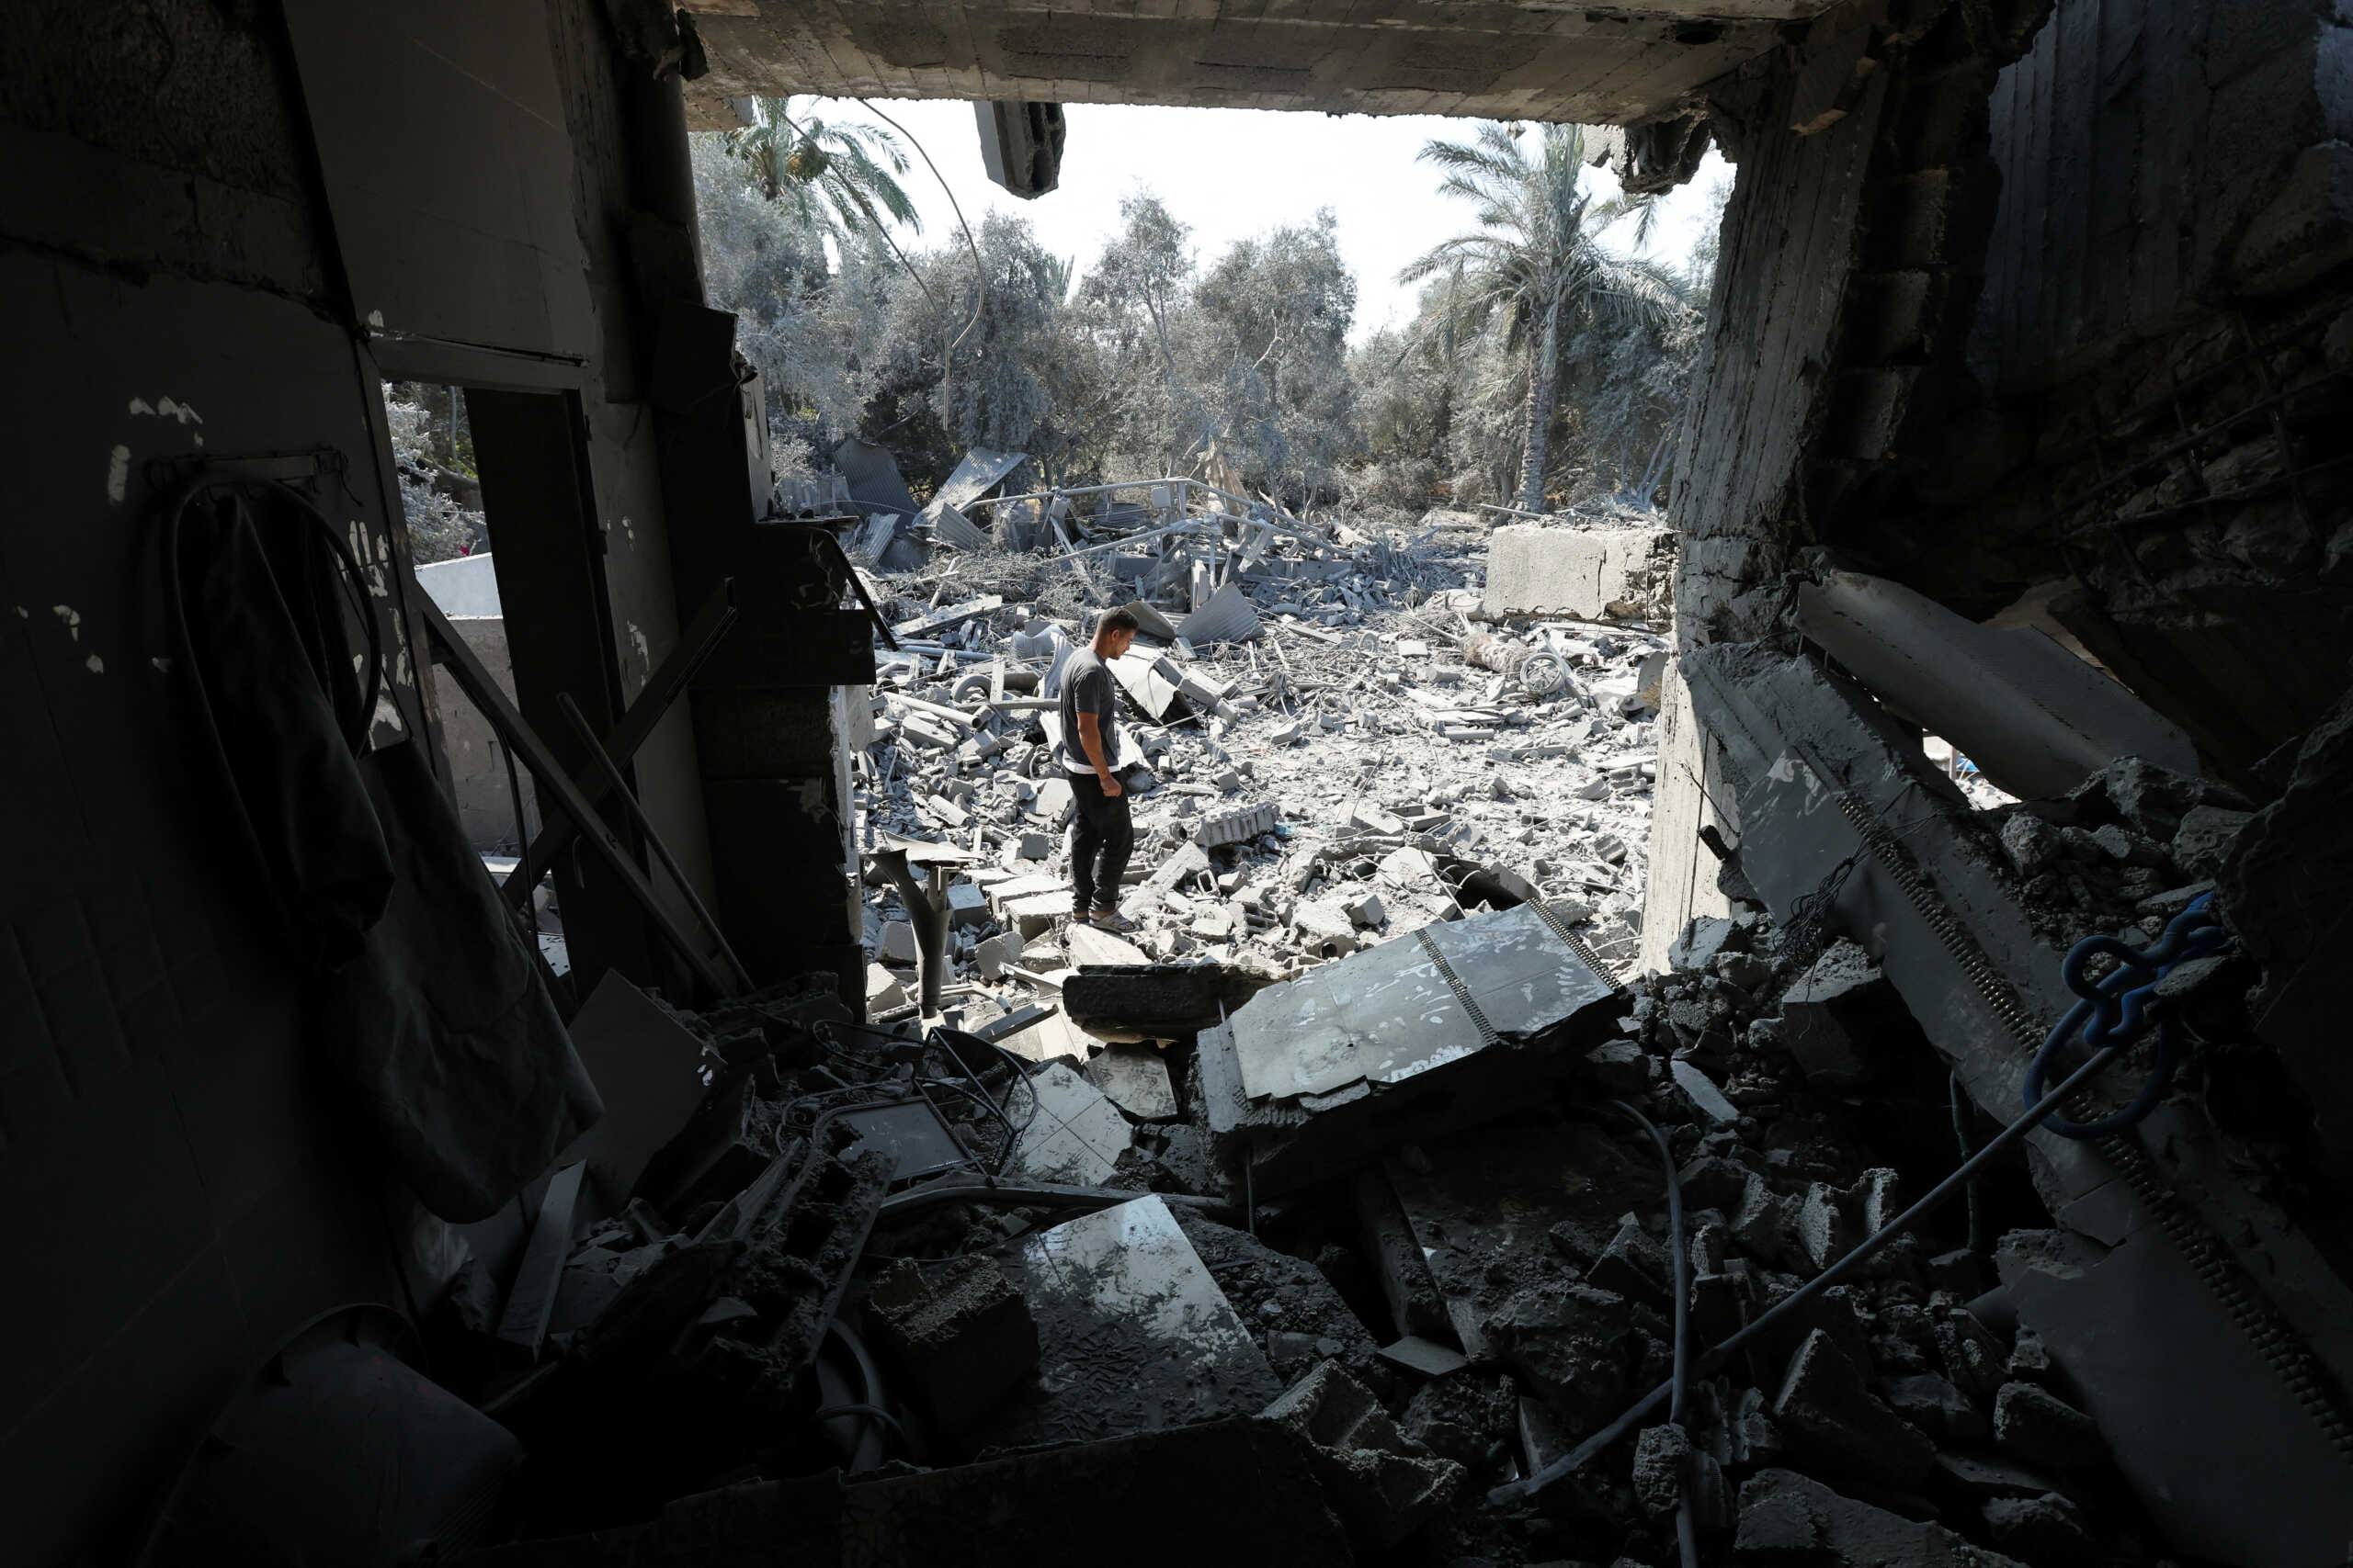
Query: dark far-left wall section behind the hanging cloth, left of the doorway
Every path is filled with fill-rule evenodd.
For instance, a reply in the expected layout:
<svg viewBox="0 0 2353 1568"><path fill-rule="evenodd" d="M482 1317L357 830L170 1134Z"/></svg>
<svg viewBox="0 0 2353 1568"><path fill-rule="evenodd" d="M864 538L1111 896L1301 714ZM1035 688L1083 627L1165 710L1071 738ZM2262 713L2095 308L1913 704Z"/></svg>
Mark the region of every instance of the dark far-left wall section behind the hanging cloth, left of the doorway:
<svg viewBox="0 0 2353 1568"><path fill-rule="evenodd" d="M398 1300L322 1041L188 769L151 461L348 458L289 66L231 7L19 7L0 66L0 1561L111 1561L289 1328Z"/></svg>

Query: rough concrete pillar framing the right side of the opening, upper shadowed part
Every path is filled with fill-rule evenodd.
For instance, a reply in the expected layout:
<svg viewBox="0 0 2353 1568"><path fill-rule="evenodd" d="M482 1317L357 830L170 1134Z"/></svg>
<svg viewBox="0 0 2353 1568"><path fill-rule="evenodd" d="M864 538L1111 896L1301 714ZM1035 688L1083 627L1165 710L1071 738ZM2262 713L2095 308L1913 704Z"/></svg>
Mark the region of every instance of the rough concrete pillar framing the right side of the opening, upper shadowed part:
<svg viewBox="0 0 2353 1568"><path fill-rule="evenodd" d="M2040 19L1849 5L1711 87L1739 179L1678 440L1685 642L1767 635L1795 552L1868 538L1937 449L1984 277L1986 96Z"/></svg>

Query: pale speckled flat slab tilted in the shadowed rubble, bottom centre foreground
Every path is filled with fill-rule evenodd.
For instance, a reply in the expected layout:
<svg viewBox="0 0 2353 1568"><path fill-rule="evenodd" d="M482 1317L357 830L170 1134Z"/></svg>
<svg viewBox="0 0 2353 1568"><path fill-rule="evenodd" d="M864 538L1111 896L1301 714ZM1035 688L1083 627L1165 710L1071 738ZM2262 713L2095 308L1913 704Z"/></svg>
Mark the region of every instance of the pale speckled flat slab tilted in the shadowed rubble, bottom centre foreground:
<svg viewBox="0 0 2353 1568"><path fill-rule="evenodd" d="M1000 1248L1038 1319L1035 1387L991 1425L998 1446L1092 1443L1264 1410L1280 1385L1158 1197Z"/></svg>

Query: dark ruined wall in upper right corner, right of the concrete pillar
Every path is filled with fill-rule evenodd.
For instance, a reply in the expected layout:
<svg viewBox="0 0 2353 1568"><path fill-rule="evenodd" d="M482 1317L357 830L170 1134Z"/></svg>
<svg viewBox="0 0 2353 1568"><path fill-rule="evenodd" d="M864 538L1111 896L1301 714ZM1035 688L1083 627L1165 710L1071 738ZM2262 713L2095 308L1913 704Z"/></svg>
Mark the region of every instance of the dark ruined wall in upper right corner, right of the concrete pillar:
<svg viewBox="0 0 2353 1568"><path fill-rule="evenodd" d="M2353 639L2353 28L2311 0L2059 0L1993 94L1981 400L1868 541L2033 590L2268 790Z"/></svg>

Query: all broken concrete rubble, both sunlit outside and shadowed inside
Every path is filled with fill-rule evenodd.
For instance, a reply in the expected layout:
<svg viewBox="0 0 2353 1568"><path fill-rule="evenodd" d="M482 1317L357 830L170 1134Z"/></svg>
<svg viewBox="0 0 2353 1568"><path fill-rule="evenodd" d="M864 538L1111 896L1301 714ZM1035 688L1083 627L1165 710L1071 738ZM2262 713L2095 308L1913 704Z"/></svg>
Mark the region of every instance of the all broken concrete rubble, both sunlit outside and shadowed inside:
<svg viewBox="0 0 2353 1568"><path fill-rule="evenodd" d="M932 891L871 877L864 1016L833 976L704 1013L595 994L584 1053L638 1105L435 1324L529 1453L480 1561L899 1561L847 1542L1122 1467L1195 1467L1151 1493L1176 1514L1261 1476L1245 1544L1172 1526L1235 1561L1664 1566L1689 1530L1704 1563L2297 1568L2348 1523L2289 1502L2311 1455L2275 1425L2200 1439L2278 1446L2273 1514L2205 1507L2169 1406L2219 1420L2266 1373L2238 1345L2160 1382L2108 1331L2188 1354L2167 1319L2214 1302L2080 1147L2035 1135L1885 1241L2014 1114L2019 1058L1880 872L1821 891L1861 830L1800 802L1911 811L1892 830L1953 919L2038 994L2054 945L2146 943L2245 867L2240 797L2122 759L1974 811L1819 668L1715 651L1687 677L1729 738L1741 896L1631 976L1659 632L1473 621L1445 527L1341 550L1245 520L1209 585L1184 517L1125 517L1160 550L1122 590L1162 583L1172 625L1231 590L1254 632L1139 642L1132 931L1071 924L1071 792L1040 764L1085 616L1007 592L1012 552L941 552L875 581L911 646L871 698L859 839ZM2200 1157L2212 1131L2165 1114ZM2240 1220L2299 1258L2271 1211ZM1699 1371L1671 1420L1642 1401L1678 1307ZM2266 1422L2306 1420L2273 1394Z"/></svg>

